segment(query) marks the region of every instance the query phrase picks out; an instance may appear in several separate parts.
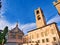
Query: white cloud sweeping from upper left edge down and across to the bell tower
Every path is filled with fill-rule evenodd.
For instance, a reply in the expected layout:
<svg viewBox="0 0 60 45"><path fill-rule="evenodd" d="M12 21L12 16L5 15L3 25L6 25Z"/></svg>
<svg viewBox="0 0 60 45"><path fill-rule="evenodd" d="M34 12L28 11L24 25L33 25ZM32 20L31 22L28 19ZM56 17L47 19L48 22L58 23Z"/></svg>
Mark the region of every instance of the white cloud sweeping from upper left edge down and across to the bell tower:
<svg viewBox="0 0 60 45"><path fill-rule="evenodd" d="M4 13L6 12L6 0L2 0L2 8L1 8L1 12L0 12L0 29L4 29L5 26L9 27L9 30L11 30L12 28L14 28L16 26L16 23L10 23L5 19ZM36 27L35 23L29 23L29 24L20 24L19 23L19 28L21 30L23 30L23 32L27 33L27 31L32 30Z"/></svg>

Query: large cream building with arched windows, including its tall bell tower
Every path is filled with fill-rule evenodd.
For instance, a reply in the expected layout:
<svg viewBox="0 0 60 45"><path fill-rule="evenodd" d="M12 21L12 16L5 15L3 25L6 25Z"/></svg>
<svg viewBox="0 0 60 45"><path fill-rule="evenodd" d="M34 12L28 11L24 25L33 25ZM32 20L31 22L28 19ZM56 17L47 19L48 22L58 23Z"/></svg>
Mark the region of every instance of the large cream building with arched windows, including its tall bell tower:
<svg viewBox="0 0 60 45"><path fill-rule="evenodd" d="M55 22L46 24L41 8L35 10L36 29L28 32L23 45L60 45L59 30Z"/></svg>

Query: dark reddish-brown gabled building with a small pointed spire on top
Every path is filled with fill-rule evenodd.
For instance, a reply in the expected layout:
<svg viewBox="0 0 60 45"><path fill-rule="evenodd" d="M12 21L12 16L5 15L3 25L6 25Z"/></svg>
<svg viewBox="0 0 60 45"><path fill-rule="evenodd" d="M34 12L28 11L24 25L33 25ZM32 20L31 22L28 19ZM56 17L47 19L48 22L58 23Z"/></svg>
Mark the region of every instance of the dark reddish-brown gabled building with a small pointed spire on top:
<svg viewBox="0 0 60 45"><path fill-rule="evenodd" d="M6 45L22 45L24 33L18 28L18 24L8 32L8 39Z"/></svg>

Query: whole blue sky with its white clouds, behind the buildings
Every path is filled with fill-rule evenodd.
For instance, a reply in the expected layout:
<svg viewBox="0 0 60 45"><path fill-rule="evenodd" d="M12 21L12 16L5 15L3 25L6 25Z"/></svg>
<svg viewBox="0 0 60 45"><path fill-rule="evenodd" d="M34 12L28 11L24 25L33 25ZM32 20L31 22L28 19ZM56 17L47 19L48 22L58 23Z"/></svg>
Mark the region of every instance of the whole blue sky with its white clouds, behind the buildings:
<svg viewBox="0 0 60 45"><path fill-rule="evenodd" d="M13 28L18 21L19 27L27 32L36 28L34 10L40 7L43 10L46 23L56 22L60 27L60 16L53 5L56 0L3 0L2 1L2 14L1 14L1 29L8 25Z"/></svg>

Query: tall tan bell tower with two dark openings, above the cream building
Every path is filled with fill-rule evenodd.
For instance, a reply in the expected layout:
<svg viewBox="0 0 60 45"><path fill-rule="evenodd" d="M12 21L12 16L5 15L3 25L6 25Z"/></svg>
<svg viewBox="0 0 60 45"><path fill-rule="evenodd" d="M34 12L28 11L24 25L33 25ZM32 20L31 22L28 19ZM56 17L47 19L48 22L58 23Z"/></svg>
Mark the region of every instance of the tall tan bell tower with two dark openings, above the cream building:
<svg viewBox="0 0 60 45"><path fill-rule="evenodd" d="M43 27L46 25L45 18L44 18L44 15L43 15L41 8L38 8L37 10L35 10L35 16L36 16L37 28Z"/></svg>

